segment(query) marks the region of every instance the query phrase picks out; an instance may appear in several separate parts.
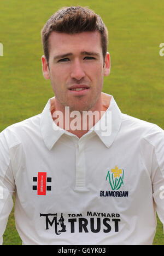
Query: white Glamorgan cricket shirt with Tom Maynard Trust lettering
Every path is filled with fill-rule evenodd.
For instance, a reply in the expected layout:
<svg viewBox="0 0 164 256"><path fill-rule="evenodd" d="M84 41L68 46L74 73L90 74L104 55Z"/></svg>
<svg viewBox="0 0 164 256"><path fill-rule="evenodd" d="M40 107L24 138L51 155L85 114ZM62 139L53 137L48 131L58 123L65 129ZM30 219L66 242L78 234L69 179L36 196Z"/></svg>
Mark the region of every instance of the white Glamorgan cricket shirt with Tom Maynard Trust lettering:
<svg viewBox="0 0 164 256"><path fill-rule="evenodd" d="M164 224L164 131L102 97L106 113L80 139L54 126L54 98L0 133L1 243L13 193L23 244L153 243L156 211Z"/></svg>

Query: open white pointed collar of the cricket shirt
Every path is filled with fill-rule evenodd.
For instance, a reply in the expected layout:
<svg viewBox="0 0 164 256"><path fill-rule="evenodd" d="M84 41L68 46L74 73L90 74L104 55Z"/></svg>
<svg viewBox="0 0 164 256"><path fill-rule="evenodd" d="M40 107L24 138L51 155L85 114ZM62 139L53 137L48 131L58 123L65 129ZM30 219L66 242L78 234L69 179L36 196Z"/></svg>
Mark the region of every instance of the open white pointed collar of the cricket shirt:
<svg viewBox="0 0 164 256"><path fill-rule="evenodd" d="M111 95L102 93L102 96L108 98ZM110 147L110 145L113 143L114 138L120 129L122 120L120 109L116 104L113 96L111 97L110 105L106 112L103 114L102 118L95 124L95 126L90 129L89 132L84 135L87 136L92 132L95 132L107 147ZM52 97L48 100L40 119L40 129L43 141L49 150L51 150L54 144L64 133L75 136L73 133L61 129L54 123L51 115L51 99L54 98L55 97Z"/></svg>

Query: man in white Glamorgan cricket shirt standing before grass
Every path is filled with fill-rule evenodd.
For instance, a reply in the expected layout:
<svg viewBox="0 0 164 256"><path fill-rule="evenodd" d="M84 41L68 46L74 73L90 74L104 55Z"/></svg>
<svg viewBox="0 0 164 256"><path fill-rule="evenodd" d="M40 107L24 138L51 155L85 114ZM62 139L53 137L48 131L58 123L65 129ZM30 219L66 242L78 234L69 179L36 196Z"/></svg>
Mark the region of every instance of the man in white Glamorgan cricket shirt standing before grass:
<svg viewBox="0 0 164 256"><path fill-rule="evenodd" d="M156 211L164 224L163 130L102 93L108 31L92 10L58 10L42 42L55 97L0 133L0 236L14 193L23 244L152 244Z"/></svg>

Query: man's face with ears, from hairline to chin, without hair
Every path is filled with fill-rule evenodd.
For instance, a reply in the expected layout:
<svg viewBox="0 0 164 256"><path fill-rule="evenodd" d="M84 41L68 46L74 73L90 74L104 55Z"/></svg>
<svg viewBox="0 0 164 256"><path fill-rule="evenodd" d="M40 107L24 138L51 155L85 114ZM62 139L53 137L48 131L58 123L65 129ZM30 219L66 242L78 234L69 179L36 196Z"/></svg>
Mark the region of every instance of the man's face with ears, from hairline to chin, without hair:
<svg viewBox="0 0 164 256"><path fill-rule="evenodd" d="M104 62L98 31L70 35L51 32L49 68L42 57L43 74L50 79L57 110L100 110L103 77L110 73L109 53Z"/></svg>

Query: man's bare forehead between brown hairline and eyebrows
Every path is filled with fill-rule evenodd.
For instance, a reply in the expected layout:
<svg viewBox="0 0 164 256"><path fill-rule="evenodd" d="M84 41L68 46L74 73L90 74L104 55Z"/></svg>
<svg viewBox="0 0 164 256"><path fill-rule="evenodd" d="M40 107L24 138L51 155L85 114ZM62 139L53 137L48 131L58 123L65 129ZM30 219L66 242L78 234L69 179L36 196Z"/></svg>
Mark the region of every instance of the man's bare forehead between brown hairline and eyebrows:
<svg viewBox="0 0 164 256"><path fill-rule="evenodd" d="M77 51L102 52L101 35L98 31L87 31L78 34L66 34L53 31L49 36L49 53L65 53Z"/></svg>

